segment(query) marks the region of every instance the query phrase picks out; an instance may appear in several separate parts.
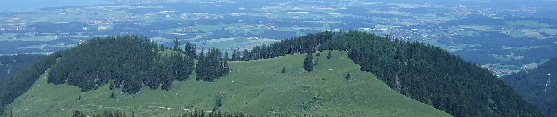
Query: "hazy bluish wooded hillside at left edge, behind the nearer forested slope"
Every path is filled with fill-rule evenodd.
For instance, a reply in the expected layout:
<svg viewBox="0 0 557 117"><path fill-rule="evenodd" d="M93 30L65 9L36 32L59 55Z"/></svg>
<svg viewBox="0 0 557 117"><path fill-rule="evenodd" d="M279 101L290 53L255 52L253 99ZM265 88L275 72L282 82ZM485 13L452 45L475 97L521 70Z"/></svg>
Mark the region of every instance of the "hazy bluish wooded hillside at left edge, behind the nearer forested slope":
<svg viewBox="0 0 557 117"><path fill-rule="evenodd" d="M17 73L19 70L45 58L46 55L17 54L0 56L0 80Z"/></svg>

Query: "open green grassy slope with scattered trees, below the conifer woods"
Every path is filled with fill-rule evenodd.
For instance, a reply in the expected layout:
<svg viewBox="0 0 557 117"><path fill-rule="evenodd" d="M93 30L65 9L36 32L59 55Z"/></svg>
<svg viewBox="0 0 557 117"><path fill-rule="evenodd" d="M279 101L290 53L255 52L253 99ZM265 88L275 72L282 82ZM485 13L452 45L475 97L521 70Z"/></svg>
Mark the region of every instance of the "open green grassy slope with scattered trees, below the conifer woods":
<svg viewBox="0 0 557 117"><path fill-rule="evenodd" d="M342 114L347 116L451 116L389 89L371 73L361 72L344 51L334 51L332 59L321 52L319 64L312 72L302 70L305 54L286 55L270 59L230 62L234 68L216 82L174 82L172 90L150 90L144 87L138 94L121 94L109 98L108 85L81 93L66 84L47 84L48 71L33 87L8 106L17 116L70 116L71 111L86 114L107 109L168 116L183 113L183 109L211 110L216 95L224 95L221 111L256 115ZM282 67L286 73L280 73ZM355 79L344 77L350 72ZM81 95L83 99L76 100ZM309 109L302 102L321 99ZM308 105L308 104L306 104ZM172 109L170 109L172 108Z"/></svg>

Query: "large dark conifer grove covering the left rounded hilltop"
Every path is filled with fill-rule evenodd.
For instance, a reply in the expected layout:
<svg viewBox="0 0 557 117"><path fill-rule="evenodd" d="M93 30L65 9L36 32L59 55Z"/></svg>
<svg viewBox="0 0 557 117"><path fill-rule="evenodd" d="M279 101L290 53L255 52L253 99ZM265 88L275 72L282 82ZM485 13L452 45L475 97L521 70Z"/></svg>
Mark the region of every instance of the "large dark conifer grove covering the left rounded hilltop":
<svg viewBox="0 0 557 117"><path fill-rule="evenodd" d="M75 85L82 92L108 83L123 93L138 93L142 85L170 90L173 81L186 80L194 69L193 58L160 54L157 43L135 35L94 38L55 55L60 60L51 68L48 83Z"/></svg>

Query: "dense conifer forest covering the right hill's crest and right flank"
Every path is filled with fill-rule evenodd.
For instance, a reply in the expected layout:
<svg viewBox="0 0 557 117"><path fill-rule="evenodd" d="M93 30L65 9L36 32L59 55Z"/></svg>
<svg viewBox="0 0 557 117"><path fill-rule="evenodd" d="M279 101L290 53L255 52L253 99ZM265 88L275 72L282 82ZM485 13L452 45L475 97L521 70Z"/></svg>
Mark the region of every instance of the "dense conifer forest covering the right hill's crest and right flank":
<svg viewBox="0 0 557 117"><path fill-rule="evenodd" d="M310 34L254 48L247 55L256 58L242 60L309 53L317 45L319 50L349 51L348 57L361 70L375 74L390 88L455 116L544 116L489 70L447 50L355 30Z"/></svg>

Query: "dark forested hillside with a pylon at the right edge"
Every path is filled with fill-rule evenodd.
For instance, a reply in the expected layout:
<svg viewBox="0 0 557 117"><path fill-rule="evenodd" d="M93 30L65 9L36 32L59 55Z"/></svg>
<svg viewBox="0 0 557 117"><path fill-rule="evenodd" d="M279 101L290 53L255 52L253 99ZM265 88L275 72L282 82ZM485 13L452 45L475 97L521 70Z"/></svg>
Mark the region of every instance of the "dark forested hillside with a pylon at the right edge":
<svg viewBox="0 0 557 117"><path fill-rule="evenodd" d="M557 98L555 88L557 87L551 86L557 82L555 75L557 75L557 58L553 58L529 72L519 72L501 77L501 79L509 83L516 93L538 106L548 116L557 116L557 100L555 100ZM548 85L548 79L551 79L553 83L550 82L551 84Z"/></svg>

